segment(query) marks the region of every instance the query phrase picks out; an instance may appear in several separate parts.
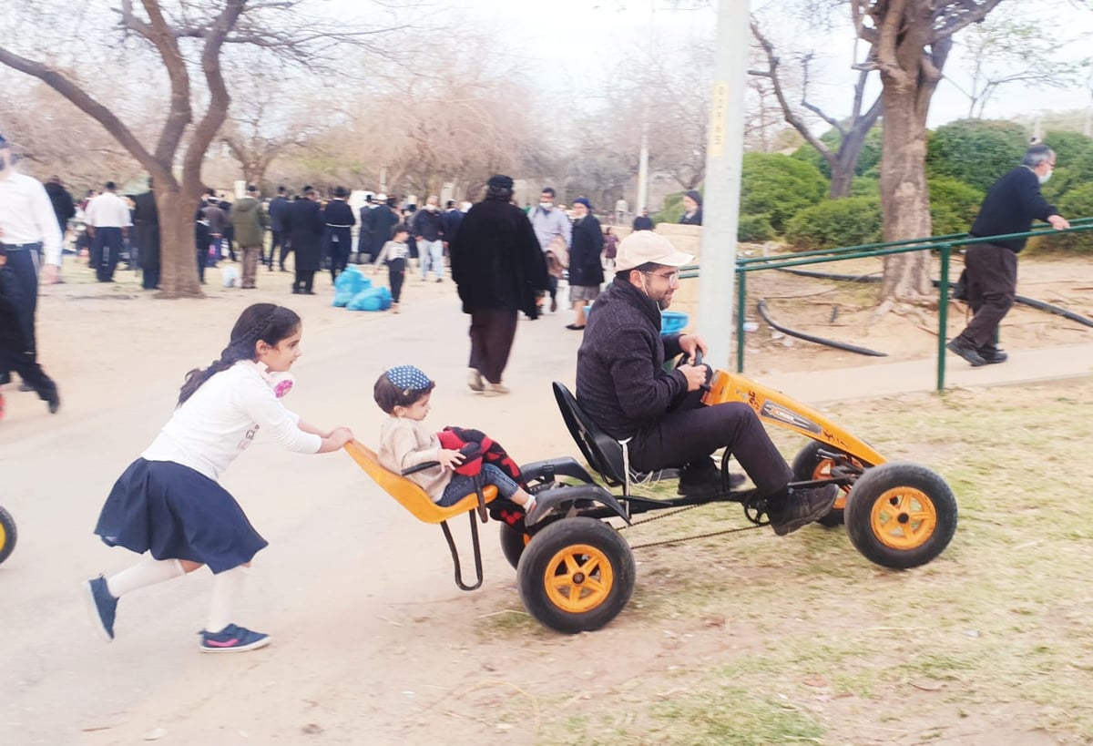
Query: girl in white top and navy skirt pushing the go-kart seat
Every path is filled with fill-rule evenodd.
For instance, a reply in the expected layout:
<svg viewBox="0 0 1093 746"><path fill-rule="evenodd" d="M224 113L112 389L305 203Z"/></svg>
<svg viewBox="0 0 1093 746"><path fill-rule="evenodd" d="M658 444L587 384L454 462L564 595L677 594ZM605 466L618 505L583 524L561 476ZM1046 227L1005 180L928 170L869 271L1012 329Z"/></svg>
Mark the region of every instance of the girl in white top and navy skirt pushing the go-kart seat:
<svg viewBox="0 0 1093 746"><path fill-rule="evenodd" d="M216 480L258 432L299 453L337 451L353 439L349 428L321 431L281 404L302 334L299 316L284 306L247 307L220 359L187 373L171 420L114 485L95 533L111 547L146 553L128 570L84 583L89 614L107 641L121 596L208 564L212 606L201 651L269 644L268 634L232 618L250 560L267 541Z"/></svg>

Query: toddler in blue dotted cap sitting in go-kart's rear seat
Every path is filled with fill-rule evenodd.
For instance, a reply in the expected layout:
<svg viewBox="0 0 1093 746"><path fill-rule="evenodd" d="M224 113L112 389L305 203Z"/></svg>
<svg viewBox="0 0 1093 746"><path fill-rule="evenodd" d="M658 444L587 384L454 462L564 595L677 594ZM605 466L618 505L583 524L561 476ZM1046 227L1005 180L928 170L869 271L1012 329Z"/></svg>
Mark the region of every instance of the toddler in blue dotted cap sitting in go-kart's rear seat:
<svg viewBox="0 0 1093 746"><path fill-rule="evenodd" d="M474 491L474 477L455 473L463 461L463 454L442 447L436 432L424 424L435 385L413 365L392 368L376 381L376 404L390 415L379 431L379 463L384 468L401 474L418 464L438 462L438 466L415 471L408 478L425 490L438 505L454 505ZM534 521L534 496L500 468L483 464L479 479L483 485L493 485L502 497L522 508L526 521Z"/></svg>

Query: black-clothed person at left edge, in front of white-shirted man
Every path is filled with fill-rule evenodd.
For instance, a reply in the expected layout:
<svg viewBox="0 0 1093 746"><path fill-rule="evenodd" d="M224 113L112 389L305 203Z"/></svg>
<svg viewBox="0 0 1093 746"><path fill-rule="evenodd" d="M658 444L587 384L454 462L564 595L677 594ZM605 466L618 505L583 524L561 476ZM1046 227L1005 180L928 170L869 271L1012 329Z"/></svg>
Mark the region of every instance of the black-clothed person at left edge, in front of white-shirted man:
<svg viewBox="0 0 1093 746"><path fill-rule="evenodd" d="M20 311L23 294L19 278L7 265L8 249L0 245L0 377L7 380L10 377L9 371L15 371L23 383L49 406L49 411L56 415L61 406L57 384L38 364L37 353L31 342L34 339L34 319ZM0 383L7 383L5 380ZM3 395L0 394L0 417L2 416Z"/></svg>

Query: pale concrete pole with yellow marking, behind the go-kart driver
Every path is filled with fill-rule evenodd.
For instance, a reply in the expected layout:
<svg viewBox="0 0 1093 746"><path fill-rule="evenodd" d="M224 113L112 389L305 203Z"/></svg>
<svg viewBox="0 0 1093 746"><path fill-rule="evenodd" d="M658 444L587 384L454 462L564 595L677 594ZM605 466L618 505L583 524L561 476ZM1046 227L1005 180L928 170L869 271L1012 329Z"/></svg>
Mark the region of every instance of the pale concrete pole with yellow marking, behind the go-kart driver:
<svg viewBox="0 0 1093 746"><path fill-rule="evenodd" d="M703 196L698 331L709 345L706 360L731 370L733 269L740 213L740 171L748 85L749 1L718 0L714 88L706 143Z"/></svg>

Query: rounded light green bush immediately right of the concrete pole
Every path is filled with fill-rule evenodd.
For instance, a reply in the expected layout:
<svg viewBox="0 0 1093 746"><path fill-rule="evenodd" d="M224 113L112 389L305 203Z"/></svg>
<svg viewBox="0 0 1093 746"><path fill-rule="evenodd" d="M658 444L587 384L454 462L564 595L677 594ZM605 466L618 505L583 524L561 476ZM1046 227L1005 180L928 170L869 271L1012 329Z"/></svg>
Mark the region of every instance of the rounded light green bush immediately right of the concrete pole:
<svg viewBox="0 0 1093 746"><path fill-rule="evenodd" d="M827 180L803 161L779 153L744 153L740 184L740 212L769 215L771 226L783 231L800 210L827 194Z"/></svg>

